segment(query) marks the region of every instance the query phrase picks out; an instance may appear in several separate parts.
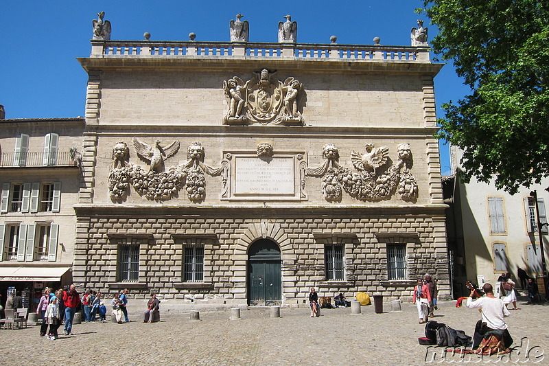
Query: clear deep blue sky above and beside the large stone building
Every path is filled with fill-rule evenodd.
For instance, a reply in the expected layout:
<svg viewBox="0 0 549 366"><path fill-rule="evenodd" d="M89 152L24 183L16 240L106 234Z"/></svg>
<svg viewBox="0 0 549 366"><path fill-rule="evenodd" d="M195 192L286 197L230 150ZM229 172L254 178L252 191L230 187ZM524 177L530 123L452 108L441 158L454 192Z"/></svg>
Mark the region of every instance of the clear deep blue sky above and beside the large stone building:
<svg viewBox="0 0 549 366"><path fill-rule="evenodd" d="M410 45L410 29L423 19L429 38L436 27L414 12L422 1L16 1L2 4L0 33L0 104L6 118L76 117L84 115L86 72L75 59L89 56L92 19L104 11L113 27L112 39L229 41L229 21L244 14L250 22L250 42L277 42L283 16L298 23L299 43ZM451 65L435 78L436 105L456 101L467 93ZM449 159L441 148L441 169Z"/></svg>

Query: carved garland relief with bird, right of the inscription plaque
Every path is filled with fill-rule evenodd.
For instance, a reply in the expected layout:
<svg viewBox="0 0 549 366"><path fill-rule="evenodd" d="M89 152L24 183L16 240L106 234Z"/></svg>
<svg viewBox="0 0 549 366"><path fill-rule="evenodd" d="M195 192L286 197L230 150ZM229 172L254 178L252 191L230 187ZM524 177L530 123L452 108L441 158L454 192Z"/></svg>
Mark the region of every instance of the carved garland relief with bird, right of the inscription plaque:
<svg viewBox="0 0 549 366"><path fill-rule="evenodd" d="M323 176L322 192L327 201L340 201L342 190L351 197L362 201L380 201L388 199L398 192L404 201L416 201L417 182L410 174L412 153L410 145L399 144L398 161L390 164L388 148L374 148L366 144L366 153L351 152L351 162L358 172L338 163L339 152L334 144L324 146L324 163L316 168L307 168L309 176ZM379 168L387 166L381 174Z"/></svg>

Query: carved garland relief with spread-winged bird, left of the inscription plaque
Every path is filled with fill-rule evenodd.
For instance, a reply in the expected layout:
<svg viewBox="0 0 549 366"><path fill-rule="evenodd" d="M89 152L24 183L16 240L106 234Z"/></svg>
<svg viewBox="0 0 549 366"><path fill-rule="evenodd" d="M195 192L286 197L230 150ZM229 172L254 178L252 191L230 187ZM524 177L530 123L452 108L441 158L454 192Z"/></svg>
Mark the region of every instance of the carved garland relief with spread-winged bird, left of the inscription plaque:
<svg viewBox="0 0 549 366"><path fill-rule="evenodd" d="M206 194L205 174L219 175L223 171L222 181L226 185L226 164L220 168L211 168L203 163L204 148L200 142L192 143L187 149L187 161L175 167L164 170L163 161L176 154L179 142L174 141L162 148L160 141L155 141L154 147L133 139L137 154L150 161L149 170L139 165L130 164L128 146L118 142L113 148L113 169L108 176L108 190L113 201L122 201L129 193L130 185L140 196L154 201L165 201L178 196L178 192L186 187L187 197L191 201L203 201Z"/></svg>

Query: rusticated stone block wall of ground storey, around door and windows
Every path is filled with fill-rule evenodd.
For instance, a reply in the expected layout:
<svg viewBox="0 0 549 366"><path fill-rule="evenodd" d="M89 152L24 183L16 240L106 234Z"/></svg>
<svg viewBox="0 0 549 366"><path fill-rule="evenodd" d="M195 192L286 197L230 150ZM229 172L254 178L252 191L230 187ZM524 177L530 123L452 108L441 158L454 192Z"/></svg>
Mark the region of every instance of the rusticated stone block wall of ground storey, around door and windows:
<svg viewBox="0 0 549 366"><path fill-rule="evenodd" d="M95 211L93 214L92 211ZM386 300L411 295L417 275L430 272L439 279L439 298L449 295L444 218L440 212L418 212L414 216L398 209L339 209L331 212L294 210L261 214L253 218L253 207L239 211L218 209L185 214L185 209L126 208L93 209L78 218L75 282L102 293L130 288L135 298L152 291L163 299L190 302L206 299L212 304L246 304L247 249L260 238L279 244L282 259L283 304L296 306L310 286L320 295L343 292L354 295L382 292ZM384 211L384 217L381 212ZM242 212L248 214L243 215ZM215 216L213 216L215 214ZM345 217L343 217L344 215ZM139 281L117 282L117 249L121 238L137 238ZM183 283L183 245L205 246L205 279L201 284ZM327 243L344 244L344 281L325 280L324 248ZM406 243L407 281L388 281L386 244ZM186 300L185 300L186 299Z"/></svg>

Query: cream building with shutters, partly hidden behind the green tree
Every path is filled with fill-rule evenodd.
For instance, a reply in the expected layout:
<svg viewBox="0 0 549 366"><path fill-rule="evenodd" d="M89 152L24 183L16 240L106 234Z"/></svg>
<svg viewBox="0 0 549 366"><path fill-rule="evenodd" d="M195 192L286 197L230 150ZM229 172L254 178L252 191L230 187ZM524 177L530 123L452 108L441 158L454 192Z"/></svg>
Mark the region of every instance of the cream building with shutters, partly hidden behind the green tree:
<svg viewBox="0 0 549 366"><path fill-rule="evenodd" d="M452 146L451 156L453 166L459 169L460 150ZM510 272L518 288L518 267L531 277L542 275L535 203L530 192L537 192L547 262L548 227L543 225L547 222L545 203L549 200L547 180L513 196L474 179L467 184L453 176L444 181L445 196L452 197L453 192L453 198L447 201L447 227L448 247L454 259L454 293L466 293L465 281L476 281L478 275L494 283L500 275Z"/></svg>

